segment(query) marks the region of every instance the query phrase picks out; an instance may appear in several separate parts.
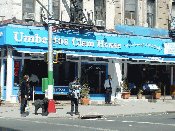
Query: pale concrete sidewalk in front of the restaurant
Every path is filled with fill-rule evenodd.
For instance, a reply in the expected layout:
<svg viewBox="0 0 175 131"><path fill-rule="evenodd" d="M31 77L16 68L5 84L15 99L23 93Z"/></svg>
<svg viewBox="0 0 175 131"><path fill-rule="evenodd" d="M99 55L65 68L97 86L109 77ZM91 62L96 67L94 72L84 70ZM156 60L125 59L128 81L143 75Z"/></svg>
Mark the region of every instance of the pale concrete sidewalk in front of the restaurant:
<svg viewBox="0 0 175 131"><path fill-rule="evenodd" d="M109 116L118 116L118 115L128 115L128 114L137 114L137 113L158 113L158 112L175 112L175 100L163 102L147 102L147 101L138 101L138 100L124 100L125 104L114 103L112 105L105 104L92 104L92 105L79 105L80 117L86 115L103 115L105 117ZM70 116L70 101L64 101L63 103L55 104L56 113L50 113L48 116L41 115L41 108L38 110L38 115L34 114L34 106L30 101L30 109L26 110L28 116L25 118L78 118L79 116L73 115ZM11 107L1 105L0 107L0 117L12 117L12 118L21 118L20 115L20 105L14 104Z"/></svg>

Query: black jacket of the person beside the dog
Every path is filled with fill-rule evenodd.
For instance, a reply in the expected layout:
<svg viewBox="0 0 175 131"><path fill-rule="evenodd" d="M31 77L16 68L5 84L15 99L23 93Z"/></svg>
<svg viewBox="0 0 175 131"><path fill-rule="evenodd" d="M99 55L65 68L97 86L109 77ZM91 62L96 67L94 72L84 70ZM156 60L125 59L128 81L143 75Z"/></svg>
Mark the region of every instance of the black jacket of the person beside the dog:
<svg viewBox="0 0 175 131"><path fill-rule="evenodd" d="M21 90L21 98L25 98L25 95L27 95L27 97L28 97L28 95L29 95L28 94L29 86L28 86L28 83L25 80L22 81L20 90Z"/></svg>

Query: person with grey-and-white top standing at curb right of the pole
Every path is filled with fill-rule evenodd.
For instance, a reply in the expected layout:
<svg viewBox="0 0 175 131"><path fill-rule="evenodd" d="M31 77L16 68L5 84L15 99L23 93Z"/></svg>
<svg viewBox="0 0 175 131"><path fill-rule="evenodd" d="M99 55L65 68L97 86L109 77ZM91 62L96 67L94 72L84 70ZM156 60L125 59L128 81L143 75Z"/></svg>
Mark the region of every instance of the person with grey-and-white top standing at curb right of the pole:
<svg viewBox="0 0 175 131"><path fill-rule="evenodd" d="M73 116L74 104L75 104L75 115L79 115L78 113L78 103L80 98L81 84L78 82L79 78L75 77L73 82L69 83L69 92L72 92L74 97L71 99L71 116Z"/></svg>

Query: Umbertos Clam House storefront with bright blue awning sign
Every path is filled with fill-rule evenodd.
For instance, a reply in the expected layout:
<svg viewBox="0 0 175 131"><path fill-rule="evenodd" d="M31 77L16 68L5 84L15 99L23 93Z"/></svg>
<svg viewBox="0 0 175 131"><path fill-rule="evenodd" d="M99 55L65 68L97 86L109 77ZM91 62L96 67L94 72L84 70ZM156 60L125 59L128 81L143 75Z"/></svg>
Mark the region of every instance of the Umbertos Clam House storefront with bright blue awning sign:
<svg viewBox="0 0 175 131"><path fill-rule="evenodd" d="M41 88L42 78L47 77L47 62L44 62L44 53L48 51L47 28L2 25L0 46L1 99L11 101L12 95L17 95L19 87L14 83L19 84L24 64L28 73L38 75ZM88 77L91 94L104 94L104 81L111 75L114 80L113 100L116 88L121 87L122 77L132 78L136 75L129 72L128 64L165 65L165 70L162 70L166 72L170 68L171 77L170 86L166 88L169 93L174 90L171 83L174 79L175 44L170 38L59 29L53 33L53 50L67 54L66 62L53 66L54 94L66 94L67 86L75 76ZM143 74L137 74L138 78L139 75ZM136 81L131 79L131 82Z"/></svg>

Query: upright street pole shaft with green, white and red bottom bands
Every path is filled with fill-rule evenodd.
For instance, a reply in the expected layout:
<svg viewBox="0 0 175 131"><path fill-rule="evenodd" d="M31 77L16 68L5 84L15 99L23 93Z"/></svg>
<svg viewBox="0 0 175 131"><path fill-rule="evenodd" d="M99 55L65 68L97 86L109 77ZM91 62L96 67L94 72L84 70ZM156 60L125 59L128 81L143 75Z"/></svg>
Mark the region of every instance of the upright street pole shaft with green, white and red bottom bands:
<svg viewBox="0 0 175 131"><path fill-rule="evenodd" d="M52 24L52 0L48 0L49 18L48 18L48 113L55 113L55 101L53 100L53 32Z"/></svg>

